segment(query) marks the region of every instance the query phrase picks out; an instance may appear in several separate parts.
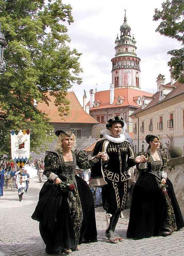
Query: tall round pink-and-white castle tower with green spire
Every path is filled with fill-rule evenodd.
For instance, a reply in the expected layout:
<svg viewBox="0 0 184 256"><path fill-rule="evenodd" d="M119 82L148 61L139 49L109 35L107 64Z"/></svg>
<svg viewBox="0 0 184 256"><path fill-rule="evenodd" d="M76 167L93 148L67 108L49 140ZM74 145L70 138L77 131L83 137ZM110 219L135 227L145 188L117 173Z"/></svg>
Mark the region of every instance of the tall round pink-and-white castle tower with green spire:
<svg viewBox="0 0 184 256"><path fill-rule="evenodd" d="M115 89L133 88L140 90L140 59L137 57L136 41L133 36L131 39L130 25L127 24L126 10L124 15L124 23L120 27L120 39L115 41L115 57L111 60L112 68L112 84Z"/></svg>

